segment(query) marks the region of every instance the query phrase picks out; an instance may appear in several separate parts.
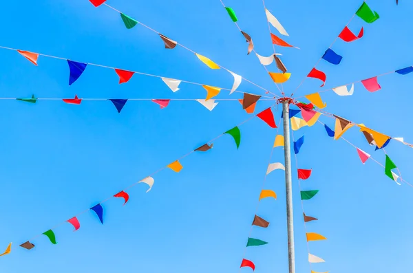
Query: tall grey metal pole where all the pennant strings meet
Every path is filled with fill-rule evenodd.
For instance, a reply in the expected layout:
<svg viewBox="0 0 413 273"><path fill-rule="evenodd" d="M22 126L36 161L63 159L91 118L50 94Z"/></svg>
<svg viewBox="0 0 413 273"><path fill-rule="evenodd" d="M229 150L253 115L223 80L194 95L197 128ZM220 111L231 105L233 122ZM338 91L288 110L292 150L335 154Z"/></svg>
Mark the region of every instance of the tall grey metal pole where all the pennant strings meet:
<svg viewBox="0 0 413 273"><path fill-rule="evenodd" d="M288 268L290 273L295 273L294 253L294 223L293 223L293 190L291 181L291 149L290 149L290 101L282 102L282 115L284 124L284 158L286 164L286 200L287 200L287 232L288 232Z"/></svg>

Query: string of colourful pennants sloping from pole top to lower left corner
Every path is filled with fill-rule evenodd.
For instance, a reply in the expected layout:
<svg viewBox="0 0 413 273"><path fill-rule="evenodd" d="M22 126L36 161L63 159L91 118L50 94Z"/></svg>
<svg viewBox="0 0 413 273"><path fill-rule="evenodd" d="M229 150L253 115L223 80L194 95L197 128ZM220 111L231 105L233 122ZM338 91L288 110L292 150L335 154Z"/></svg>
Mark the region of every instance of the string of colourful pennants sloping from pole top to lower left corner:
<svg viewBox="0 0 413 273"><path fill-rule="evenodd" d="M260 113L258 113L256 116L258 118L260 118L261 120L263 120L266 124L268 124L269 127L277 128L277 125L275 124L274 114L273 114L272 108L273 107L269 107L269 108L265 109L264 111L261 111ZM109 199L112 199L112 198L121 198L121 199L123 199L123 202L124 202L123 206L125 206L125 204L127 204L127 201L129 201L129 193L127 193L126 190L131 188L131 187L134 187L134 186L136 186L137 184L140 184L140 183L144 183L144 184L147 184L149 186L149 188L147 190L147 193L148 193L149 190L151 190L151 188L153 187L153 184L155 183L155 179L153 179L152 175L164 170L165 168L169 168L172 171L174 171L175 173L180 173L180 171L182 171L182 168L183 168L183 165L181 164L181 161L182 161L182 159L184 159L184 157L188 157L192 153L195 153L195 152L198 152L198 151L199 152L206 152L206 151L209 151L209 150L213 149L213 143L211 143L211 142L212 141L215 142L215 140L218 140L218 138L221 138L223 135L231 135L231 137L235 141L235 145L237 146L237 149L239 149L240 148L240 143L241 143L241 131L240 131L239 127L242 124L248 122L249 120L252 120L252 118L253 117L248 118L247 120L244 120L244 122L241 122L240 124L237 124L237 126L235 126L232 129L222 133L221 135L218 135L218 137L216 137L213 140L203 144L202 146L199 146L198 148L194 149L190 153L187 153L187 155L184 155L184 156L178 158L178 160L175 160L171 164L168 164L167 166L164 166L164 167L158 169L158 171L153 172L151 175L145 177L144 179L140 180L139 182L136 182L134 184L131 184L131 185L127 186L127 188L125 188L124 190L121 190L120 192L116 193L115 195L112 195L111 197L105 199L105 201L101 201L99 204L96 204L95 206L92 206L92 208L89 208L89 210L94 212L94 214L98 217L100 223L103 224L103 221L104 221L104 219L103 219L104 207L102 206L103 203L105 203L106 201L108 201ZM58 225L55 226L55 228L63 225L64 223L70 223L74 227L74 231L78 230L81 227L81 223L80 223L78 217L80 215L83 215L85 212L87 212L89 210L85 210L85 211L79 213L78 215L75 215L74 217L59 223ZM55 228L53 228L53 229L55 229ZM54 230L50 229L50 230L47 230L47 231L45 231L41 234L36 235L35 237L32 237L32 239L29 239L28 241L25 241L24 243L22 243L20 245L21 248L31 250L32 248L35 247L34 243L32 243L31 241L33 241L34 239L36 239L37 237L39 237L41 235L45 235L50 240L50 243L53 243L53 244L57 243L56 234L55 234ZM6 251L3 252L3 254L0 254L0 256L10 254L11 245L12 245L12 243L10 243L8 245L8 248L6 248Z"/></svg>

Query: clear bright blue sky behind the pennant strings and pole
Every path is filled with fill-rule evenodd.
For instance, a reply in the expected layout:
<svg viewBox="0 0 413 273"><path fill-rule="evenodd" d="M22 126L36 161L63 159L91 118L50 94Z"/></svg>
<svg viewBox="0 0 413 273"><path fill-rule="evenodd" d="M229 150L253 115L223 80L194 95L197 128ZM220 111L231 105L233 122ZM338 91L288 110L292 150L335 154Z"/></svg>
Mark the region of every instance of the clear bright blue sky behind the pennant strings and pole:
<svg viewBox="0 0 413 273"><path fill-rule="evenodd" d="M394 0L368 1L381 18L370 25L359 18L352 21L350 29L357 32L363 25L365 36L354 43L337 41L333 49L343 56L341 65L320 63L319 69L328 77L326 87L413 65L413 3L400 2L397 7ZM247 45L219 0L107 3L277 91L257 58L246 56ZM271 54L262 3L225 3L253 37L257 52ZM286 41L301 48L279 50L293 74L284 89L292 91L361 1L268 1L266 5L290 34ZM119 14L105 6L94 8L87 0L5 1L0 14L3 46L209 85L232 85L230 74L208 69L182 48L163 49L153 32L140 25L127 30ZM39 58L39 67L35 67L8 50L0 50L0 60L2 97L33 93L43 98L205 96L202 87L185 84L173 94L160 79L139 75L118 85L114 71L98 67L87 67L69 87L65 61ZM361 84L351 97L326 92L326 110L413 142L412 77L380 78L382 89L374 94ZM318 80L308 79L297 96L318 87ZM239 89L261 92L248 83ZM220 98L228 96L223 91ZM240 97L233 94L231 98ZM36 248L31 251L18 246L242 122L248 115L238 102L220 102L212 112L198 102L171 102L162 110L152 102L127 102L120 114L107 101L76 106L0 100L0 105L0 248L14 243L12 254L0 258L1 272L238 272L276 133L257 118L241 127L239 151L226 135L215 142L212 151L182 160L181 173L165 170L155 175L151 192L145 194L147 187L142 184L129 190L126 206L117 199L107 202L103 226L87 212L79 217L77 232L68 223L55 230L57 245L41 236L32 241ZM269 105L259 102L257 109ZM280 112L275 115L278 122ZM321 121L332 126L329 118ZM313 176L302 184L320 190L304 204L308 215L319 218L308 223L308 230L328 237L328 241L310 243L310 251L326 260L313 270L401 272L410 268L413 188L396 186L372 161L363 166L352 146L328 138L319 124L295 132L295 138L303 134L306 140L299 166L313 168ZM374 152L357 129L345 137L384 163L383 151ZM403 178L412 182L410 148L390 142L386 151ZM277 149L271 162L284 162L282 156L282 149ZM266 188L275 190L278 199L262 201L258 212L271 221L270 228L253 229L252 237L269 244L246 252L256 272L288 270L283 175L275 171L267 177ZM293 190L297 272L309 272L295 175Z"/></svg>

